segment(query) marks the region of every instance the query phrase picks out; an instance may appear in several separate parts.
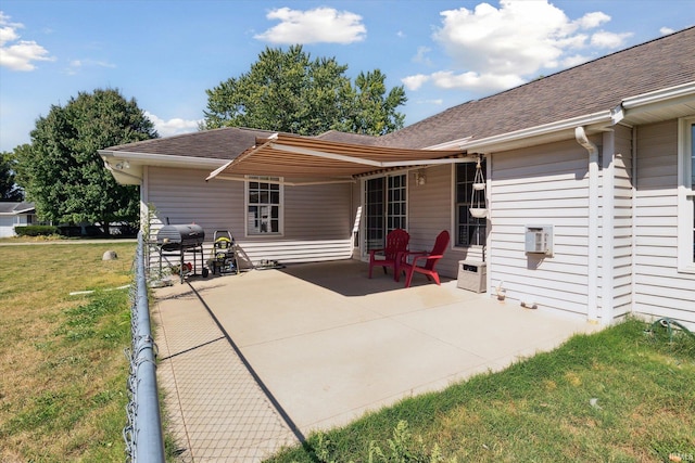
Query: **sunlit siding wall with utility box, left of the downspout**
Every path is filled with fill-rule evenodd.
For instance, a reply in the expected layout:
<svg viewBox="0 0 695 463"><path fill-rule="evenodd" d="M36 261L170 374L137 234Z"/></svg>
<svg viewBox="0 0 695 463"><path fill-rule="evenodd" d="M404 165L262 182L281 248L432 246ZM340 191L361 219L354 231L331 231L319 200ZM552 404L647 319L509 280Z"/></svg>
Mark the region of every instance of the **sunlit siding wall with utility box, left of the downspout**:
<svg viewBox="0 0 695 463"><path fill-rule="evenodd" d="M589 160L573 140L492 155L490 285L586 316ZM554 227L554 255L525 253L526 226Z"/></svg>

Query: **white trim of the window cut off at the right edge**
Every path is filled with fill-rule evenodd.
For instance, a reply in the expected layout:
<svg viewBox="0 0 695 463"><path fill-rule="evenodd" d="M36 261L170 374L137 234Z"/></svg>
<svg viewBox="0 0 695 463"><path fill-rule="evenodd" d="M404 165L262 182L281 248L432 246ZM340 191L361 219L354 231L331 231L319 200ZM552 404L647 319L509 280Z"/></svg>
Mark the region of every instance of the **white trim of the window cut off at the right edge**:
<svg viewBox="0 0 695 463"><path fill-rule="evenodd" d="M678 271L695 273L693 261L693 215L695 191L692 184L693 137L695 117L679 120L678 126Z"/></svg>

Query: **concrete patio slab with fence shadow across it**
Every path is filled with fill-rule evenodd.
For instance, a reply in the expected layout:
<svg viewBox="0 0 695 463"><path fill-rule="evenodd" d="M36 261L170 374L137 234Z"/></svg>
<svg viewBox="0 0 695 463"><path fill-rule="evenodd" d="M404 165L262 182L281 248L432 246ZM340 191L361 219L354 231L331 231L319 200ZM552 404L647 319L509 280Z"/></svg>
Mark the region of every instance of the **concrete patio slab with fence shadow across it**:
<svg viewBox="0 0 695 463"><path fill-rule="evenodd" d="M377 269L378 270L378 269ZM258 462L315 429L549 350L585 321L337 261L156 290L157 377L189 462Z"/></svg>

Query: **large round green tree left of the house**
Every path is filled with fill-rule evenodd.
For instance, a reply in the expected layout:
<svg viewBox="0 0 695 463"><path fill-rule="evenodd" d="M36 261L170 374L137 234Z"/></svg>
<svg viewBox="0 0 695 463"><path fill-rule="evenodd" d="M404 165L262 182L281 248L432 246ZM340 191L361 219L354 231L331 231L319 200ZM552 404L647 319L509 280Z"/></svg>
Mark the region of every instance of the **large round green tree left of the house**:
<svg viewBox="0 0 695 463"><path fill-rule="evenodd" d="M99 222L109 234L114 221L137 221L139 197L136 187L116 183L97 150L156 137L134 99L80 92L36 121L30 146L18 152L18 179L41 219Z"/></svg>

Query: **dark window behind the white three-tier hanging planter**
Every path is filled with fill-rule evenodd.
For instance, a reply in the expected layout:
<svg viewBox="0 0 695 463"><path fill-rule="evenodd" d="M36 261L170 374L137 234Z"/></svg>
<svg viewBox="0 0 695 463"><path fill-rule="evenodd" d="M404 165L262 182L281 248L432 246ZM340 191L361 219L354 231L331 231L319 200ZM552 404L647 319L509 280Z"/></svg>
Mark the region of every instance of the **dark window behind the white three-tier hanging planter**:
<svg viewBox="0 0 695 463"><path fill-rule="evenodd" d="M485 162L481 164L483 172ZM475 218L468 211L473 192L476 163L456 164L456 245L484 246L488 222L485 218ZM476 192L477 195L484 192ZM476 196L478 198L478 196ZM485 198L486 200L486 198Z"/></svg>

